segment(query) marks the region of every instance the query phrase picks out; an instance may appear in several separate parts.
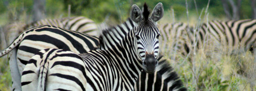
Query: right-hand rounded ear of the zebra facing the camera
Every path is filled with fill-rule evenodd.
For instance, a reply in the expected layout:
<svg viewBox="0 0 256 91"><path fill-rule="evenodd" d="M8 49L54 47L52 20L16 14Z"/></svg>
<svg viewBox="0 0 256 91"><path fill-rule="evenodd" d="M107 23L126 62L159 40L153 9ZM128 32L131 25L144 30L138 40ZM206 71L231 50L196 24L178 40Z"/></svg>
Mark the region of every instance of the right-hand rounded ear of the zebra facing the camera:
<svg viewBox="0 0 256 91"><path fill-rule="evenodd" d="M157 22L158 20L160 20L162 18L162 16L163 16L163 6L162 6L162 3L158 3L157 5L155 5L150 18L153 21Z"/></svg>

